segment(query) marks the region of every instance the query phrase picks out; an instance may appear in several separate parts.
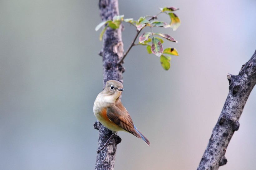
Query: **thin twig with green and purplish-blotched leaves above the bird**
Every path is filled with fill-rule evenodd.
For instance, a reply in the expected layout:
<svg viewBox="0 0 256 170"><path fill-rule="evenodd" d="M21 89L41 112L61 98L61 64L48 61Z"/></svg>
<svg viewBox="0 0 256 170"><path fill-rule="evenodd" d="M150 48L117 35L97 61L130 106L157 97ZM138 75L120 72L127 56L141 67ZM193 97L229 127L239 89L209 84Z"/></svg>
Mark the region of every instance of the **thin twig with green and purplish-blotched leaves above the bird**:
<svg viewBox="0 0 256 170"><path fill-rule="evenodd" d="M139 43L134 44L135 42L134 40L134 42L130 45L130 48L133 45L145 45L148 53L155 54L156 56L160 57L160 63L162 67L165 70L168 70L170 68L170 60L171 60L171 57L169 55L178 56L179 54L175 48L164 49L162 45L164 43L164 40L162 38L172 42L176 42L176 43L177 41L168 34L154 33L153 27L171 28L173 29L173 31L175 31L180 26L180 18L174 13L174 11L177 11L178 8L164 7L159 9L160 9L160 12L157 15L140 17L138 20L134 20L133 18L124 19L124 15L115 16L113 17L113 20L107 20L107 21L101 22L98 26L96 26L95 30L98 31L102 26L104 26L104 29L101 31L101 34L100 34L100 40L102 40L103 34L108 27L112 29L118 29L122 22L127 22L136 27L136 30L137 30L137 35L135 36L135 39L136 39L142 29L144 29L147 26L150 27L151 32L145 32L142 35L140 35ZM164 21L156 20L157 16L160 13L165 13L169 15L171 20L169 24ZM150 38L150 36L152 36L152 38ZM127 50L127 53L129 52L130 48ZM127 53L124 54L123 59ZM123 59L121 61L123 61Z"/></svg>

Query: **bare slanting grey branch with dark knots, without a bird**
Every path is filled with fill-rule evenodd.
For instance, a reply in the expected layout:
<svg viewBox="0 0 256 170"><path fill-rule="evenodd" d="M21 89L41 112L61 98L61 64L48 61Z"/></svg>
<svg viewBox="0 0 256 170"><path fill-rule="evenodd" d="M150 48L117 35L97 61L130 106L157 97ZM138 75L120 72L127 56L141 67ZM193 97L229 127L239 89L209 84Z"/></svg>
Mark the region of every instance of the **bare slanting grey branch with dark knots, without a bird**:
<svg viewBox="0 0 256 170"><path fill-rule="evenodd" d="M198 170L216 170L225 165L226 149L235 131L244 105L256 84L256 50L238 75L228 74L229 94L215 125Z"/></svg>

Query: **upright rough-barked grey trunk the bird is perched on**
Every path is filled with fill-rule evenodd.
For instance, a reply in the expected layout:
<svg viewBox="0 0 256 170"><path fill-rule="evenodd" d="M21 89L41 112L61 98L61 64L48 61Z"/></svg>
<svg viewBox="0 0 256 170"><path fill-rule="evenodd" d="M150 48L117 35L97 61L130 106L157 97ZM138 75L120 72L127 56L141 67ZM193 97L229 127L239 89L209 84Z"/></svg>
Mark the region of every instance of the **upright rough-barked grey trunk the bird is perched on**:
<svg viewBox="0 0 256 170"><path fill-rule="evenodd" d="M100 0L99 8L102 21L113 19L115 15L119 15L118 0ZM100 55L103 57L103 87L108 80L123 82L122 73L124 72L124 68L121 64L117 64L123 55L123 51L121 26L117 30L108 28L103 36L103 47L100 52ZM101 149L102 145L112 135L112 131L108 130L99 121L94 124L94 128L99 130L98 149ZM114 135L109 140L110 144L97 152L95 169L114 169L116 146L120 142L121 138Z"/></svg>

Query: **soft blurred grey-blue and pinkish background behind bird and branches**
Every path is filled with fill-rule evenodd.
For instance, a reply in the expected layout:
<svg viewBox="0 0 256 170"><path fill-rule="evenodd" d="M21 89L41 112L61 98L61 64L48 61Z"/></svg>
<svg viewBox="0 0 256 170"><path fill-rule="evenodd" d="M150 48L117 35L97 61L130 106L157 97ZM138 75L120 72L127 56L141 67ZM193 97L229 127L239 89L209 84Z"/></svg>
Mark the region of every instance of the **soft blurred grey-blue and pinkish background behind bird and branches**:
<svg viewBox="0 0 256 170"><path fill-rule="evenodd" d="M120 1L125 18L180 8L178 43L165 71L135 46L125 59L122 102L150 140L120 132L115 169L196 169L238 74L256 49L255 0ZM169 22L161 14L160 20ZM93 103L103 87L98 1L0 0L0 169L94 169ZM124 24L126 51L135 28ZM145 30L147 31L147 30ZM138 40L137 40L138 42ZM256 90L227 148L222 170L253 169Z"/></svg>

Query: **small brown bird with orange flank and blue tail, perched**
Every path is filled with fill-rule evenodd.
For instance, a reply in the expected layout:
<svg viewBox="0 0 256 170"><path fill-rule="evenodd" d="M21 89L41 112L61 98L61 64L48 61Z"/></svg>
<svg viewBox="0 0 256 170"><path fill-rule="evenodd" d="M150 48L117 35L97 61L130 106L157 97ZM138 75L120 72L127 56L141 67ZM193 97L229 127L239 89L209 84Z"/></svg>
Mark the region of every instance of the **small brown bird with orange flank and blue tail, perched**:
<svg viewBox="0 0 256 170"><path fill-rule="evenodd" d="M150 145L149 140L142 135L142 133L133 124L131 116L119 98L123 90L123 84L119 81L107 81L104 90L98 94L94 102L94 115L102 125L113 132L111 137L117 131L126 131L143 139L148 145ZM111 139L111 137L109 139ZM104 144L104 146L106 144Z"/></svg>

